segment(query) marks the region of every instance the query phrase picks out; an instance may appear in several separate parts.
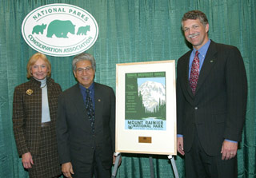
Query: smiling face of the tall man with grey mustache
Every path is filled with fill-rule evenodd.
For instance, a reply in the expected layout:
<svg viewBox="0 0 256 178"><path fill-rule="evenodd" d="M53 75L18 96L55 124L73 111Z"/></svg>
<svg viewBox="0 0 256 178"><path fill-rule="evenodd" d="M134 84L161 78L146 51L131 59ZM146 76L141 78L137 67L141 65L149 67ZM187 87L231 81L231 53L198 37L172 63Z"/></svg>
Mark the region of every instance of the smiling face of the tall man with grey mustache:
<svg viewBox="0 0 256 178"><path fill-rule="evenodd" d="M209 24L204 26L199 19L192 20L188 19L182 22L185 38L190 42L194 49L200 49L202 45L208 42L208 30Z"/></svg>

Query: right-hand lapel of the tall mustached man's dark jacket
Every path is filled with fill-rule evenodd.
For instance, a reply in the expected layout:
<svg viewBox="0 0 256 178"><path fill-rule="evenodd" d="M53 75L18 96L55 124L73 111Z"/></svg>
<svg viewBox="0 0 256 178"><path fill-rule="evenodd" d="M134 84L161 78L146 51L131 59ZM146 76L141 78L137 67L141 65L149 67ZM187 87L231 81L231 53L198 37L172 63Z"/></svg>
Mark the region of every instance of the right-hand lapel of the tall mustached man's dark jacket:
<svg viewBox="0 0 256 178"><path fill-rule="evenodd" d="M215 43L212 41L210 42L209 49L207 50L205 61L202 64L202 69L199 74L198 85L195 93L198 92L203 82L206 80L206 77L210 73L210 70L216 64L217 58L215 57L215 53L217 53L217 50L216 50Z"/></svg>

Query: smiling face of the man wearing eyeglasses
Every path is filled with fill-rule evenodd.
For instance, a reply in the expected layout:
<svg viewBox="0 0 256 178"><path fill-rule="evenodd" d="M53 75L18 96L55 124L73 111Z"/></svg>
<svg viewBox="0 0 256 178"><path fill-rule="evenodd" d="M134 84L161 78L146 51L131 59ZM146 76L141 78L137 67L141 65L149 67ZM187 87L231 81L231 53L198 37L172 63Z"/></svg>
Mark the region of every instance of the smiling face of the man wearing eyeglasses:
<svg viewBox="0 0 256 178"><path fill-rule="evenodd" d="M94 82L95 70L91 66L91 62L88 60L78 61L76 63L76 70L73 71L74 77L78 82L88 89Z"/></svg>

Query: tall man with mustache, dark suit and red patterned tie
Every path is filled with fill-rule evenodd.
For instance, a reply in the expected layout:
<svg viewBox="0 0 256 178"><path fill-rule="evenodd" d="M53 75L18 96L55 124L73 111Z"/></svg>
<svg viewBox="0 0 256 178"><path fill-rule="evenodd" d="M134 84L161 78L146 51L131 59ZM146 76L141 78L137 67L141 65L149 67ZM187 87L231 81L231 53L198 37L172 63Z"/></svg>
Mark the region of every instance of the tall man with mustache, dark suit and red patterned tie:
<svg viewBox="0 0 256 178"><path fill-rule="evenodd" d="M192 10L182 30L193 49L178 59L178 152L186 177L237 177L246 117L246 70L239 50L208 38L206 15Z"/></svg>

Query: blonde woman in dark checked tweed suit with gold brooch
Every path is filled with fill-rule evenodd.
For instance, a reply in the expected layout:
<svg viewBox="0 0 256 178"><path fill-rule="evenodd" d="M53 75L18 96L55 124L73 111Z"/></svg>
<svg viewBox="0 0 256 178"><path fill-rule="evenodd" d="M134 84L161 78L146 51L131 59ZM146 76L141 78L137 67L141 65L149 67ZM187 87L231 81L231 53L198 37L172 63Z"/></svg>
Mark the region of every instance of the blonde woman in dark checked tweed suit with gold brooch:
<svg viewBox="0 0 256 178"><path fill-rule="evenodd" d="M35 53L26 66L30 81L14 89L13 128L18 154L30 177L58 177L55 121L61 86L50 78L46 55Z"/></svg>

